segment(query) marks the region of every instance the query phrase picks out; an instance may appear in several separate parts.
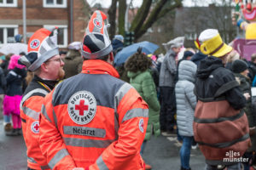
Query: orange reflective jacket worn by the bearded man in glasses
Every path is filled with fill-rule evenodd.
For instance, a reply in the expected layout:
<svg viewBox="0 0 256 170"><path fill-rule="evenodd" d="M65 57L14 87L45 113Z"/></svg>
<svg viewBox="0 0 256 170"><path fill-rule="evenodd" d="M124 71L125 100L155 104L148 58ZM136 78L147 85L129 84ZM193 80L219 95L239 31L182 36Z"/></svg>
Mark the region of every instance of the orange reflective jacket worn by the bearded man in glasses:
<svg viewBox="0 0 256 170"><path fill-rule="evenodd" d="M20 102L22 132L27 148L27 166L37 170L49 169L39 147L39 115L46 94L49 94L49 89L33 79Z"/></svg>

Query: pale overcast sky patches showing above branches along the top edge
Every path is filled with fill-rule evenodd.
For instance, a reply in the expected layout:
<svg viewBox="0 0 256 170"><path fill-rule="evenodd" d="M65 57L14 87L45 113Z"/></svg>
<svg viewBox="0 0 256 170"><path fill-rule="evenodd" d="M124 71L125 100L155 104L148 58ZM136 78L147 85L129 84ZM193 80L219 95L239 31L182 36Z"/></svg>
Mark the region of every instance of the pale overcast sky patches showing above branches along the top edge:
<svg viewBox="0 0 256 170"><path fill-rule="evenodd" d="M131 0L128 0L128 3ZM111 4L111 0L87 0L87 2L90 4L90 6L94 6L95 3L101 3L103 8L108 8ZM201 3L198 4L199 6L204 6L207 5L208 3L211 3L212 0L204 0L204 1L200 1ZM133 6L134 7L139 7L141 6L143 3L143 0L133 0ZM193 6L194 3L192 3L192 0L183 0L183 6L185 7L190 7Z"/></svg>

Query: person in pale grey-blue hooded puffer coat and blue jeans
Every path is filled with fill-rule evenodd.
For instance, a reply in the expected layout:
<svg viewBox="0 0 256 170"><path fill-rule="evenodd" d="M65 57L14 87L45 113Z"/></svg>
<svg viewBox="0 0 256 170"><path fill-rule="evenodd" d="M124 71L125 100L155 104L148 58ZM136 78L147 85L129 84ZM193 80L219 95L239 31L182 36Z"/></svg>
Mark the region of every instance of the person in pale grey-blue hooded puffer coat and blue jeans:
<svg viewBox="0 0 256 170"><path fill-rule="evenodd" d="M178 67L178 81L175 86L177 103L177 129L183 139L180 149L181 170L190 170L189 159L193 142L193 120L196 105L195 88L196 65L183 60Z"/></svg>

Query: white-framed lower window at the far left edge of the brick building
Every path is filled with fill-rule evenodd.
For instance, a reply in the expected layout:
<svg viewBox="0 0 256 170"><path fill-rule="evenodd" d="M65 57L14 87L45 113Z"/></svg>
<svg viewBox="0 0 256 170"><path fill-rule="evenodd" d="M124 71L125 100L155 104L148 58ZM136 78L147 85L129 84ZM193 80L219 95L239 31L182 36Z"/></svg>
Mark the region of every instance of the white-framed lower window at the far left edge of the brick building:
<svg viewBox="0 0 256 170"><path fill-rule="evenodd" d="M16 34L18 34L18 26L14 26L14 25L1 26L0 25L0 46L3 45L3 43L15 42Z"/></svg>

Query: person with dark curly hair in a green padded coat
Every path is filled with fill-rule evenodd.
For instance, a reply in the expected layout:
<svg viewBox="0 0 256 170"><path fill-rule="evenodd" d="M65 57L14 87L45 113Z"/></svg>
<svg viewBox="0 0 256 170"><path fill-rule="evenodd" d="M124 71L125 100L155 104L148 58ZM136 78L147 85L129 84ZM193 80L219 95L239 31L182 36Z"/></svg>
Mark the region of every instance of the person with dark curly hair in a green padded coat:
<svg viewBox="0 0 256 170"><path fill-rule="evenodd" d="M137 54L133 54L125 62L125 70L128 71L127 76L130 77L131 86L137 89L137 92L148 104L148 127L142 145L141 155L143 155L144 147L151 135L160 135L160 103L157 99L154 79L150 73L151 65L152 60L148 58L146 54L142 54L141 51L138 51ZM151 169L151 166L148 164L146 164L146 170L147 169Z"/></svg>

